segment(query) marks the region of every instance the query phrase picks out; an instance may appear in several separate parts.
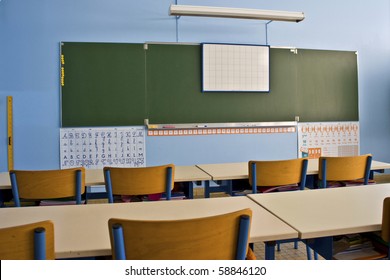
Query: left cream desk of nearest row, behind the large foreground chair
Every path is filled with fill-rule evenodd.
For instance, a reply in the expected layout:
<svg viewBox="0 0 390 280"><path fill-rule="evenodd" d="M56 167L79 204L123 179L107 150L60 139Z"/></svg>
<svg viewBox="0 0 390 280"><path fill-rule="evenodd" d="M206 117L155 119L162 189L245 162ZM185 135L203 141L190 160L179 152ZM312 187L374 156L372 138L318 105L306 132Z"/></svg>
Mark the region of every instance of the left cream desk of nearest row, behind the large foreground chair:
<svg viewBox="0 0 390 280"><path fill-rule="evenodd" d="M108 219L189 219L253 211L250 242L265 241L267 258L274 257L275 240L297 238L298 232L247 197L187 199L139 203L86 204L0 209L0 228L52 220L56 258L111 255ZM270 241L270 242L267 242Z"/></svg>

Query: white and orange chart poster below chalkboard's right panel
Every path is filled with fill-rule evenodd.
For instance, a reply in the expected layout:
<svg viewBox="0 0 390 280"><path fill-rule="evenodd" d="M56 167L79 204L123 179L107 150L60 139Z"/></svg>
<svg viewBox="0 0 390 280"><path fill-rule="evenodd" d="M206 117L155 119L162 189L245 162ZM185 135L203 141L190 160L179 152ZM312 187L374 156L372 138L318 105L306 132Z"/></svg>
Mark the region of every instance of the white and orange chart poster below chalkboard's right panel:
<svg viewBox="0 0 390 280"><path fill-rule="evenodd" d="M359 155L359 122L298 124L298 156Z"/></svg>

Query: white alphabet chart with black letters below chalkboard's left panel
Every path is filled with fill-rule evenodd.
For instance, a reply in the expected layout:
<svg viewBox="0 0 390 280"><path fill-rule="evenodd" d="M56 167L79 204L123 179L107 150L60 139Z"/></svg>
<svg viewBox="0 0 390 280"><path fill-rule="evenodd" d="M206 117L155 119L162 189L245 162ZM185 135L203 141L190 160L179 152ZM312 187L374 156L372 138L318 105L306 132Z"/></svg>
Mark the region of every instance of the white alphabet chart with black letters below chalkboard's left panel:
<svg viewBox="0 0 390 280"><path fill-rule="evenodd" d="M63 169L145 166L145 127L61 128L60 157Z"/></svg>

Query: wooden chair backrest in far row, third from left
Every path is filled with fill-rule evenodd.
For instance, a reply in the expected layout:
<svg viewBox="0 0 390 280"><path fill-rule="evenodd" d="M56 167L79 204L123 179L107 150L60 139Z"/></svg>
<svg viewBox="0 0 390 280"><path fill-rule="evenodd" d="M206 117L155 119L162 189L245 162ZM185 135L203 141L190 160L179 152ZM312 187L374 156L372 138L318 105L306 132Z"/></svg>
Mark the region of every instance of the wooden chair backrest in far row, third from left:
<svg viewBox="0 0 390 280"><path fill-rule="evenodd" d="M249 161L249 183L253 193L257 187L287 186L298 184L300 189L306 185L307 159L288 159L274 161Z"/></svg>

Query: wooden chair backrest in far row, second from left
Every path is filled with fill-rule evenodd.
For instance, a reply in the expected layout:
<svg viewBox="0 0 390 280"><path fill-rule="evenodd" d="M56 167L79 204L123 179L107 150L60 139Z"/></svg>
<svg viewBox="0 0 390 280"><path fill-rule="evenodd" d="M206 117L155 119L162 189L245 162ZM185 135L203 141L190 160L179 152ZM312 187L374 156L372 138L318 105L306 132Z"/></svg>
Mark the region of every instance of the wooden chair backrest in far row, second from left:
<svg viewBox="0 0 390 280"><path fill-rule="evenodd" d="M114 195L148 195L165 193L171 198L175 165L149 167L104 167L104 180L108 201Z"/></svg>

